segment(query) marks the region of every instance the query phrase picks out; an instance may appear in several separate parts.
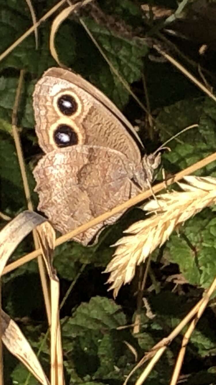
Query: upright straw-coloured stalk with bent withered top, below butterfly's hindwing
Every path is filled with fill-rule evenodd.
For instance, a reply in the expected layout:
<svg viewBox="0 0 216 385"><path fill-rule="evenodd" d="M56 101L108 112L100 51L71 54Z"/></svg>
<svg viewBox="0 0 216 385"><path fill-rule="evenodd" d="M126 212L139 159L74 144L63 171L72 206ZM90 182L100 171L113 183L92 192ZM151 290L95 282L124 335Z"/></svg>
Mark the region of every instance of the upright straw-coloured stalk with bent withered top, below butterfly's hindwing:
<svg viewBox="0 0 216 385"><path fill-rule="evenodd" d="M50 223L45 222L37 227L42 255L50 277L51 292L51 383L64 384L63 357L61 349L61 332L59 323L59 281L53 268L53 251L55 248L55 231Z"/></svg>

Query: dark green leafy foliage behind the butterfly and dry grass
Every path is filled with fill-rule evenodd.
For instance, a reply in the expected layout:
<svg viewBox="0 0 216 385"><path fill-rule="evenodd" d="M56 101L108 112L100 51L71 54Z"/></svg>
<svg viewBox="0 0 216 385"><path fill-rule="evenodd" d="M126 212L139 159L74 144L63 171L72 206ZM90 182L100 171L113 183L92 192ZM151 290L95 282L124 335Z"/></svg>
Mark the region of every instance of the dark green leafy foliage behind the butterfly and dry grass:
<svg viewBox="0 0 216 385"><path fill-rule="evenodd" d="M53 0L34 0L37 19L55 3ZM178 141L170 142L172 151L163 154L163 166L167 173L178 172L214 152L214 102L171 64L158 60L158 54L140 38L147 35L161 42L163 49L167 49L169 54L197 77L197 65L200 64L205 69L203 74L206 80L215 87L215 2L197 0L186 5L181 19L169 24L170 28L178 30L181 37L168 37L163 24L166 17L155 20L151 13L150 18L146 18L141 9L143 2L140 0L98 0L95 4L100 9L99 16L97 14L95 17L91 5L81 12L81 16L106 57L143 104L146 104L143 87L143 77L145 78L151 113L155 119L154 131L151 132L148 127L145 112L128 94L118 77L113 75L78 18L74 16L63 22L56 35L56 47L61 62L105 92L134 125L139 121L139 134L147 152L155 150L186 126L199 124L197 128L182 134ZM173 10L176 7L176 3L168 0L149 1L149 4L171 7ZM35 82L43 72L56 65L48 50L50 26L55 16L38 28L38 50L35 50L32 34L0 62L0 211L12 218L27 208L11 135L12 108L19 73L20 69L26 70L18 125L32 199L37 207L32 169L42 151L34 132L32 92ZM31 25L30 12L24 0L0 0L0 51L7 49ZM188 31L188 26L191 25L193 28ZM206 31L208 36L205 35ZM159 34L168 37L178 52L168 43L164 46L164 40L161 40ZM208 43L209 47L200 56L198 49L204 43ZM216 164L211 163L196 174L216 176ZM86 264L60 313L67 384L122 384L135 365L135 357L124 341L136 349L138 359L143 357L145 352L178 325L216 275L215 208L208 208L187 221L178 234L173 233L165 246L156 250L153 255L144 296L155 316L148 318L143 307L140 333L134 335L130 327L116 330L118 326L131 325L135 319L137 278L131 285L122 288L114 301L105 285L108 276L101 273L111 260L113 249L110 245L120 238L123 229L144 217L141 209L134 208L118 223L105 229L96 246L84 248L68 242L56 248L55 267L60 278L61 299L83 264ZM1 219L0 226L5 224ZM28 236L11 260L32 249L32 236ZM174 275L177 283L170 279ZM37 351L47 330L47 321L36 261L31 261L3 277L3 308L15 319ZM215 311L213 298L189 342L181 373L187 385L216 383ZM146 384L168 383L180 343L179 336L157 363ZM48 343L42 349L40 362L48 371ZM141 370L131 377L130 384L135 383ZM5 352L5 383L10 385L17 381L23 384L26 378L25 368ZM28 383L32 385L37 381L31 377Z"/></svg>

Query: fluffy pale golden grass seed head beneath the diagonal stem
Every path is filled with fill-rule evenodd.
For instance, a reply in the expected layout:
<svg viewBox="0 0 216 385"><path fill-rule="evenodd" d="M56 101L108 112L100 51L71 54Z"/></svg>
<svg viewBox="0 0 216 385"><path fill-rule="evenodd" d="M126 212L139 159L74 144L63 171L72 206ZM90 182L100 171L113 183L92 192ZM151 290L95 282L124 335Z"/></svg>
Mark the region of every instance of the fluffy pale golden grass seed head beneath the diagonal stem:
<svg viewBox="0 0 216 385"><path fill-rule="evenodd" d="M136 266L169 238L174 228L201 211L204 207L216 203L216 179L213 177L184 177L186 182L179 183L183 192L157 196L157 200L146 203L144 209L156 213L144 221L130 226L125 232L131 235L121 238L114 258L105 272L111 273L109 290L114 289L114 296L120 287L129 283L135 275Z"/></svg>

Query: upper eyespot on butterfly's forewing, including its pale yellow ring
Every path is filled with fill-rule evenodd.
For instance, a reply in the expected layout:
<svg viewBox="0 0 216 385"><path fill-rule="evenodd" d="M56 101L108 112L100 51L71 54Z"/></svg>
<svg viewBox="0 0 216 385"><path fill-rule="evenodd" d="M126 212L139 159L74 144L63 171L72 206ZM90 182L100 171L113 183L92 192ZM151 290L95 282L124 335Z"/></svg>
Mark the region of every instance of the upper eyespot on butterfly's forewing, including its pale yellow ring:
<svg viewBox="0 0 216 385"><path fill-rule="evenodd" d="M59 116L75 119L82 112L82 101L71 90L64 90L55 95L54 108Z"/></svg>

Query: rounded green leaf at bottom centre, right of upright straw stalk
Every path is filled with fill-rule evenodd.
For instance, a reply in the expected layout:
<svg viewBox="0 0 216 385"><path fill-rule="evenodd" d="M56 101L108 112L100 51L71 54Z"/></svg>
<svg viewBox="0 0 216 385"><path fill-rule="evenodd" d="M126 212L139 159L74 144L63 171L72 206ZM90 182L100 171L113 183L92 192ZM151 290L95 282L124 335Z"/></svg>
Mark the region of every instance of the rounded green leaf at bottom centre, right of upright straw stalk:
<svg viewBox="0 0 216 385"><path fill-rule="evenodd" d="M127 362L126 357L122 358L125 355L123 340L130 338L130 333L126 337L125 331L116 328L125 325L125 322L121 306L99 296L91 298L89 303L82 303L73 316L65 320L62 328L64 346L79 377L89 381L122 379ZM124 365L119 361L120 357ZM81 365L82 362L85 366ZM118 366L121 366L120 370L115 368ZM76 378L75 373L71 375L71 383L75 381L73 378Z"/></svg>

